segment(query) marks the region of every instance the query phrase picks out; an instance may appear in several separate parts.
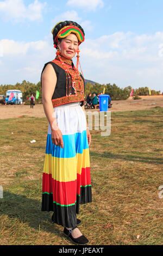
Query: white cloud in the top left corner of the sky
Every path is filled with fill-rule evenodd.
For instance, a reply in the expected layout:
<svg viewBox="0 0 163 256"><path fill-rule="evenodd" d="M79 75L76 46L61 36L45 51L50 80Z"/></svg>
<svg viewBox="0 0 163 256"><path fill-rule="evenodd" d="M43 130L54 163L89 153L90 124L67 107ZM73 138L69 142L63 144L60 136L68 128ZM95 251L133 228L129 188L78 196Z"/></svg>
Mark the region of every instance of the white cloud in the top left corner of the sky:
<svg viewBox="0 0 163 256"><path fill-rule="evenodd" d="M22 22L24 19L29 21L42 20L42 11L46 7L45 3L35 0L28 7L23 0L5 0L0 2L0 14L3 21Z"/></svg>

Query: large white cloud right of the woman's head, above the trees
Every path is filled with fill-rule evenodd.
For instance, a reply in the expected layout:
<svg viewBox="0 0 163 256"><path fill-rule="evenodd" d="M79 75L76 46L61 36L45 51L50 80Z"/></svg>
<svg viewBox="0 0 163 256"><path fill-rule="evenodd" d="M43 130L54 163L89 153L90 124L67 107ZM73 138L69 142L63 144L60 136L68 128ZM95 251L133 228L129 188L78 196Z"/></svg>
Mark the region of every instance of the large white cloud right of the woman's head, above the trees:
<svg viewBox="0 0 163 256"><path fill-rule="evenodd" d="M116 32L80 45L80 62L87 79L138 88L163 90L163 33L136 35ZM162 48L161 48L162 47Z"/></svg>

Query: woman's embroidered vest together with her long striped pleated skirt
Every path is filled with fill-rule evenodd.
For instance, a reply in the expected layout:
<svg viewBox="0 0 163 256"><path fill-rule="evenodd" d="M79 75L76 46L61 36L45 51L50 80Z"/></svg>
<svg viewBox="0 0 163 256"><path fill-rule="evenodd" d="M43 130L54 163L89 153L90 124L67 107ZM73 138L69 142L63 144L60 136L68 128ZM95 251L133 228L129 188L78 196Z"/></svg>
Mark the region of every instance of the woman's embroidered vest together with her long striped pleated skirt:
<svg viewBox="0 0 163 256"><path fill-rule="evenodd" d="M52 143L48 124L41 210L54 211L54 223L71 228L77 224L79 204L92 202L86 116L82 109L85 82L71 59L56 56L43 70L49 63L57 75L52 104L64 148Z"/></svg>

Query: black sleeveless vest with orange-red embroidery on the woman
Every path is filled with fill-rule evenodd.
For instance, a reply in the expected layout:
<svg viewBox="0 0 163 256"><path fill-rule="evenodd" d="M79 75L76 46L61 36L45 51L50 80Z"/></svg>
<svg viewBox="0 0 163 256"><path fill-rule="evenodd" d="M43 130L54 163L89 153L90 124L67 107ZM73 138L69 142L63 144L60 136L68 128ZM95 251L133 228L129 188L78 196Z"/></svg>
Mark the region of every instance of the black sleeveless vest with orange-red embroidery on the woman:
<svg viewBox="0 0 163 256"><path fill-rule="evenodd" d="M66 59L65 57L62 57L62 56L61 56L61 59L62 59L62 62L68 64L68 69L71 69L72 74L75 74L74 64L72 60ZM78 101L82 101L80 106L83 106L84 97L85 97L84 77L80 74L80 76L78 76L78 79L77 78L75 79L75 88L76 88L76 93L75 93L74 88L72 86L72 76L68 74L68 78L67 78L66 71L63 68L63 65L61 64L58 56L56 56L55 59L52 60L51 62L47 62L44 65L42 72L46 68L46 65L49 63L52 64L55 70L55 73L57 75L57 83L54 89L54 93L52 95L53 107L64 105L70 102L78 102ZM41 76L42 76L42 72L41 72ZM42 84L41 84L41 87L42 87ZM68 90L68 95L66 96L67 90Z"/></svg>

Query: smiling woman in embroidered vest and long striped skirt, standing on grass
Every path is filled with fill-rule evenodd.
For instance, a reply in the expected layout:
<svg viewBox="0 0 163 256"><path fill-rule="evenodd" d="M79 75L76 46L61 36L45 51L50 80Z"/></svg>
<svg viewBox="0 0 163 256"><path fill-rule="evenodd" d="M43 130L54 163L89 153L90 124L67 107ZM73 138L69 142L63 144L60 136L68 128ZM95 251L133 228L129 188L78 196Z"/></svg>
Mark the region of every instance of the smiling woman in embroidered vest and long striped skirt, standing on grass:
<svg viewBox="0 0 163 256"><path fill-rule="evenodd" d="M76 214L79 204L92 202L91 135L84 110L84 78L72 62L84 31L76 22L64 21L55 25L52 34L57 56L41 73L42 102L49 122L41 210L54 211L52 220L64 227L64 235L85 245L89 241L77 228L81 221Z"/></svg>

